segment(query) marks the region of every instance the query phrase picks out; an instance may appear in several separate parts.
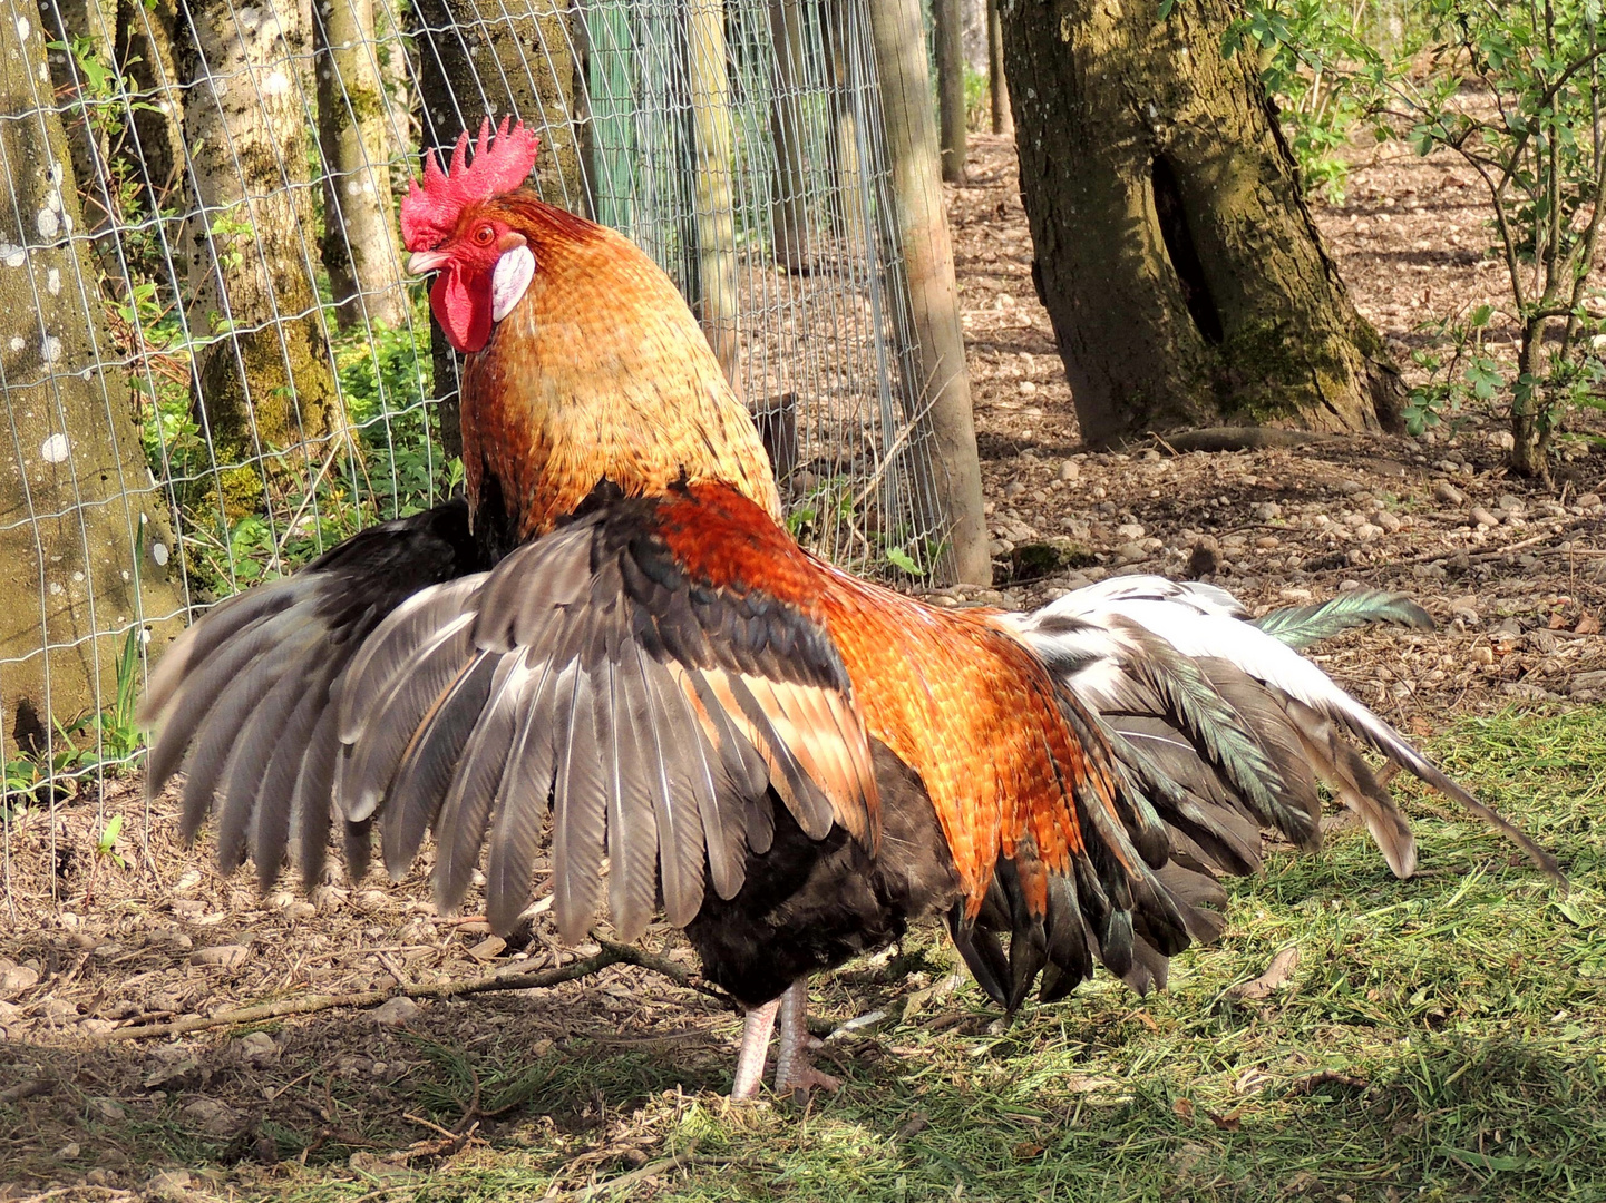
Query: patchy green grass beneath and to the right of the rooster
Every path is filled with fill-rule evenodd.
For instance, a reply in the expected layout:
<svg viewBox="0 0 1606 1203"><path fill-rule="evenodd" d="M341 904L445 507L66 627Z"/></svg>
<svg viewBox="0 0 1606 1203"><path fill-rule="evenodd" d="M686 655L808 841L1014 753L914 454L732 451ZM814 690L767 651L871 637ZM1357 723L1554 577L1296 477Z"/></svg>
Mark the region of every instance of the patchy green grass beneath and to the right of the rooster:
<svg viewBox="0 0 1606 1203"><path fill-rule="evenodd" d="M299 1087L344 1124L305 1166L220 1169L217 1193L499 1203L689 1152L613 1197L1606 1200L1606 708L1465 720L1434 752L1559 853L1567 895L1476 821L1402 789L1421 875L1396 882L1360 830L1320 856L1277 854L1235 885L1222 940L1179 957L1150 999L1100 980L1004 1030L967 983L845 1041L825 1063L845 1089L806 1108L726 1105L726 1052L676 1041L673 1009L617 1036L577 1018L554 1044L519 1028L533 1013L564 1023L538 1002L453 1004L432 1036L406 1038L414 1065L382 1097L328 1068ZM1229 1001L1290 944L1288 986ZM817 983L816 1010L883 1007L951 964L922 936L887 970ZM353 1018L320 1042L360 1050L363 1031ZM483 1111L509 1110L450 1161L397 1172L360 1152L432 1136L405 1113L451 1128L475 1092ZM141 1134L154 1164L226 1163L181 1129L173 1115ZM262 1131L292 1161L318 1124Z"/></svg>

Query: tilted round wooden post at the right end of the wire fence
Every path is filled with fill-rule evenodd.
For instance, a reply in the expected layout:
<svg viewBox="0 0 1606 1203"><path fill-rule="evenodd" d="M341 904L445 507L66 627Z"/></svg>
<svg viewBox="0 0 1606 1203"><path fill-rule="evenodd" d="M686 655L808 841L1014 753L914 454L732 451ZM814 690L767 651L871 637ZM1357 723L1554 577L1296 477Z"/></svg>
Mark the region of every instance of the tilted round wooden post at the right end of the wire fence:
<svg viewBox="0 0 1606 1203"><path fill-rule="evenodd" d="M875 0L867 6L891 161L893 222L909 279L909 318L919 341L915 369L930 405L923 419L936 459L930 491L940 500L951 532L954 577L988 585L993 562L981 516L981 464L970 414L954 247L938 180L920 0Z"/></svg>

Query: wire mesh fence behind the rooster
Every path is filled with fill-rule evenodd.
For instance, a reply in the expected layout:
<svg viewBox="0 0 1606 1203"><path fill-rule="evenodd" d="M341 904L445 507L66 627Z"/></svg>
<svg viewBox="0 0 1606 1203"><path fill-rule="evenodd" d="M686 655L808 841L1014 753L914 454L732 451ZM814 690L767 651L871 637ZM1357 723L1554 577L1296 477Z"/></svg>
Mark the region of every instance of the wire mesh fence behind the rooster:
<svg viewBox="0 0 1606 1203"><path fill-rule="evenodd" d="M931 570L872 2L0 5L0 809L128 763L199 610L458 485L397 202L487 116L681 286L797 535Z"/></svg>

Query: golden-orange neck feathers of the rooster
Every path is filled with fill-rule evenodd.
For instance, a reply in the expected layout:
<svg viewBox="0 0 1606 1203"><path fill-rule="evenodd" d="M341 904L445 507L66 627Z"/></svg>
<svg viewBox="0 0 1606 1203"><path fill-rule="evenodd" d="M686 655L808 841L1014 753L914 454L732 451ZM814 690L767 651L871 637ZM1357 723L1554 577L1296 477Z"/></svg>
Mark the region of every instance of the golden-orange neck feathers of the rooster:
<svg viewBox="0 0 1606 1203"><path fill-rule="evenodd" d="M516 533L533 538L602 480L631 496L716 480L779 520L758 430L670 278L622 234L525 193L495 210L536 270L464 368L471 501L493 474Z"/></svg>

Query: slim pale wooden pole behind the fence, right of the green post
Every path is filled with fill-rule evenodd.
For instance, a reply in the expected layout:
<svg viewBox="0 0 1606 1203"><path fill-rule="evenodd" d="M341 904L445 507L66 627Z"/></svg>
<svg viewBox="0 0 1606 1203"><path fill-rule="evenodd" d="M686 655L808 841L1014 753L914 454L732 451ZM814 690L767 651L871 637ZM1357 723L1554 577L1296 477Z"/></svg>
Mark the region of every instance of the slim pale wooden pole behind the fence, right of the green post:
<svg viewBox="0 0 1606 1203"><path fill-rule="evenodd" d="M736 381L740 310L736 281L731 75L724 47L724 0L687 0L686 66L691 84L694 230L697 279L692 308L726 379Z"/></svg>

